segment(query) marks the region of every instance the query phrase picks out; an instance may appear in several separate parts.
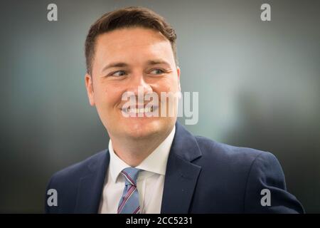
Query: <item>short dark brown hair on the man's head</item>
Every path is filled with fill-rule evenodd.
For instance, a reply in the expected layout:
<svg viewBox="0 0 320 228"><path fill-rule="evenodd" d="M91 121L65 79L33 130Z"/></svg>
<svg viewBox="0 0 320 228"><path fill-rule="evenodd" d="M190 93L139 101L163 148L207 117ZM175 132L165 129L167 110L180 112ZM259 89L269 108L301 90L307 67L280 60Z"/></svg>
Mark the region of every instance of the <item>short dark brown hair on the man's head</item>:
<svg viewBox="0 0 320 228"><path fill-rule="evenodd" d="M143 7L130 6L104 14L90 27L87 38L85 39L87 73L90 75L92 73L92 62L95 56L95 41L97 40L97 36L118 28L131 27L151 28L162 33L162 35L170 41L172 51L174 52L174 59L176 65L178 65L176 57L176 33L174 32L174 28L154 11Z"/></svg>

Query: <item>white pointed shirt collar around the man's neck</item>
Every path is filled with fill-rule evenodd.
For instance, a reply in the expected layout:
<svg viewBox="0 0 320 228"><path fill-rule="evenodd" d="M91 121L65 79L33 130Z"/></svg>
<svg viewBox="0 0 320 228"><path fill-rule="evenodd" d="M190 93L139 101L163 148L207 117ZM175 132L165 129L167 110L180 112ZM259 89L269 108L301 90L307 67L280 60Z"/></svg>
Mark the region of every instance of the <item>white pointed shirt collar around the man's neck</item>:
<svg viewBox="0 0 320 228"><path fill-rule="evenodd" d="M166 174L166 162L168 161L169 152L171 149L171 144L174 140L174 133L176 132L176 126L171 130L171 133L166 137L166 139L161 142L161 144L156 147L156 149L151 152L151 154L146 157L137 168L140 170L145 170L149 172L154 172L159 175ZM109 152L110 152L110 165L109 172L112 181L116 182L119 173L127 167L126 162L121 160L115 153L112 147L111 139L109 140Z"/></svg>

